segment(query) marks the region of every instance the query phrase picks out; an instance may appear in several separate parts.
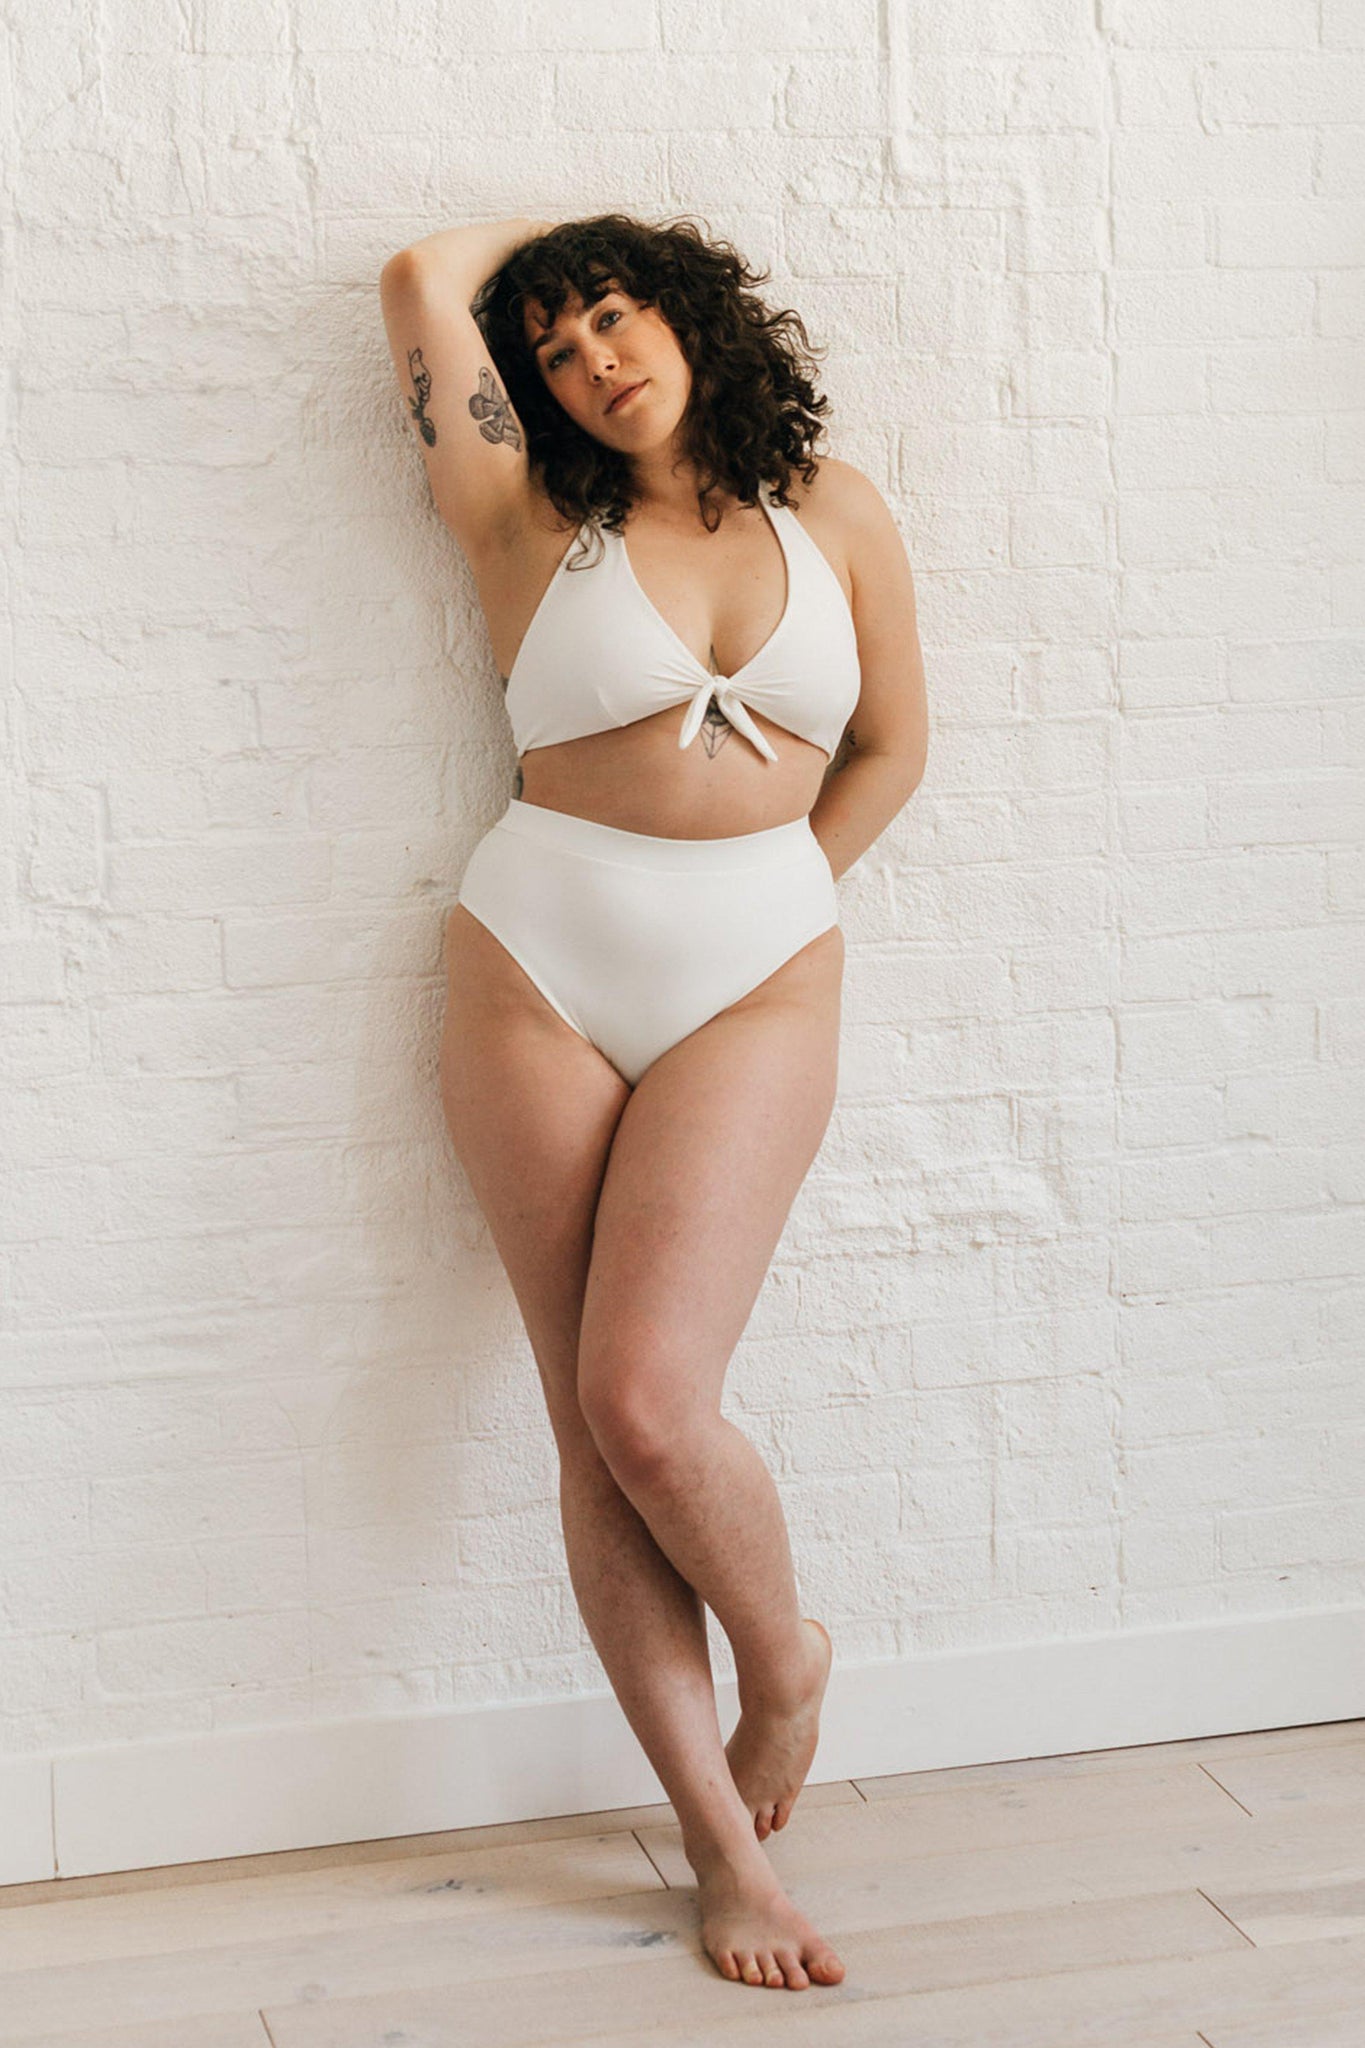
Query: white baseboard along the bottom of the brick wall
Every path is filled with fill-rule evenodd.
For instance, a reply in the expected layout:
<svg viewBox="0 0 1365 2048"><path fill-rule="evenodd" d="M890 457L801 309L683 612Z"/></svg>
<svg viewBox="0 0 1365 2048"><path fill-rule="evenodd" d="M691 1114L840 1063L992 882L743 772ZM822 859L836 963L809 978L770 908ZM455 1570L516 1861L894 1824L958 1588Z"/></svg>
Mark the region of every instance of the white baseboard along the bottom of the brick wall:
<svg viewBox="0 0 1365 2048"><path fill-rule="evenodd" d="M1003 1642L835 1665L810 1782L1359 1716L1361 1608ZM663 1798L610 1692L63 1749L0 1759L0 1884Z"/></svg>

